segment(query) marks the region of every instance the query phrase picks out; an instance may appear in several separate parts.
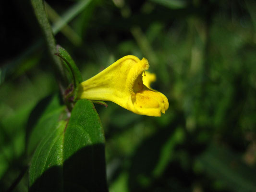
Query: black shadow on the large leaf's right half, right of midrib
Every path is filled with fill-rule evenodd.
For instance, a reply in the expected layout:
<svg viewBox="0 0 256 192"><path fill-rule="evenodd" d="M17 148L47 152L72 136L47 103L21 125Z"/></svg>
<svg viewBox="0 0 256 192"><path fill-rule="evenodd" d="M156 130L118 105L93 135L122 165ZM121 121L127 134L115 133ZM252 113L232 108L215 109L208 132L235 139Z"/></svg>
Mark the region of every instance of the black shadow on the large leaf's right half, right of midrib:
<svg viewBox="0 0 256 192"><path fill-rule="evenodd" d="M84 147L64 162L63 175L67 192L107 192L104 144Z"/></svg>

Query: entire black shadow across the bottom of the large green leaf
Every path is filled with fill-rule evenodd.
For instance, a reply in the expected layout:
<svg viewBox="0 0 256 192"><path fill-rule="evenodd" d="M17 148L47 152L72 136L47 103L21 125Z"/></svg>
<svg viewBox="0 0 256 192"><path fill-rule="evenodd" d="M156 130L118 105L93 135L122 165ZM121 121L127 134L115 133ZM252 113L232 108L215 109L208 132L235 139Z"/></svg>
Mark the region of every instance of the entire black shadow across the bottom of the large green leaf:
<svg viewBox="0 0 256 192"><path fill-rule="evenodd" d="M63 167L50 167L29 191L108 192L104 144L86 146L70 156Z"/></svg>

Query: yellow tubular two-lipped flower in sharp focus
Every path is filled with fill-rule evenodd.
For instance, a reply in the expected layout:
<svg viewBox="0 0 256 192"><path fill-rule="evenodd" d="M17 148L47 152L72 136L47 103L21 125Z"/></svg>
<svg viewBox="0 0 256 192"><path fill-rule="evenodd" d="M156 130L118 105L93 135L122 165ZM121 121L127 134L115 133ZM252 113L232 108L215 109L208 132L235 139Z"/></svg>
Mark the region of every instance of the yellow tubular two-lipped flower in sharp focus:
<svg viewBox="0 0 256 192"><path fill-rule="evenodd" d="M161 116L169 107L168 99L143 84L142 73L148 68L145 58L125 56L82 82L77 99L112 101L136 114Z"/></svg>

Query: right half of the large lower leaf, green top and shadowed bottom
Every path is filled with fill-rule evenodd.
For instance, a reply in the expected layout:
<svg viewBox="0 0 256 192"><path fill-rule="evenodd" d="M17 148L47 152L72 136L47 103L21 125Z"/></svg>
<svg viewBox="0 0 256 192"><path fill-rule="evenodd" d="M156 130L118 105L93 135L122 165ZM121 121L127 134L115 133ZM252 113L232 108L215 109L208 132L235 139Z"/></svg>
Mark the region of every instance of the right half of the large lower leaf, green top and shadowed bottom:
<svg viewBox="0 0 256 192"><path fill-rule="evenodd" d="M64 182L68 183L67 189L108 191L104 143L103 128L94 105L91 101L79 100L73 108L64 138Z"/></svg>

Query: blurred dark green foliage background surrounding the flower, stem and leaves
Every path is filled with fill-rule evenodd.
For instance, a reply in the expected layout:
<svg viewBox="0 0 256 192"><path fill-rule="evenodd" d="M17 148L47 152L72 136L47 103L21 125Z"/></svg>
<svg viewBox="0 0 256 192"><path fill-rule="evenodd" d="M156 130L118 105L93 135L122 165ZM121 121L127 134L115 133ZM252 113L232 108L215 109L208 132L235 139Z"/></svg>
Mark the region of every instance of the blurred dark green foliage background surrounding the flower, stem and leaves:
<svg viewBox="0 0 256 192"><path fill-rule="evenodd" d="M145 57L169 99L160 118L95 104L110 192L256 191L255 0L46 2L84 80ZM0 14L0 191L26 192L28 120L59 90L30 1L1 1Z"/></svg>

